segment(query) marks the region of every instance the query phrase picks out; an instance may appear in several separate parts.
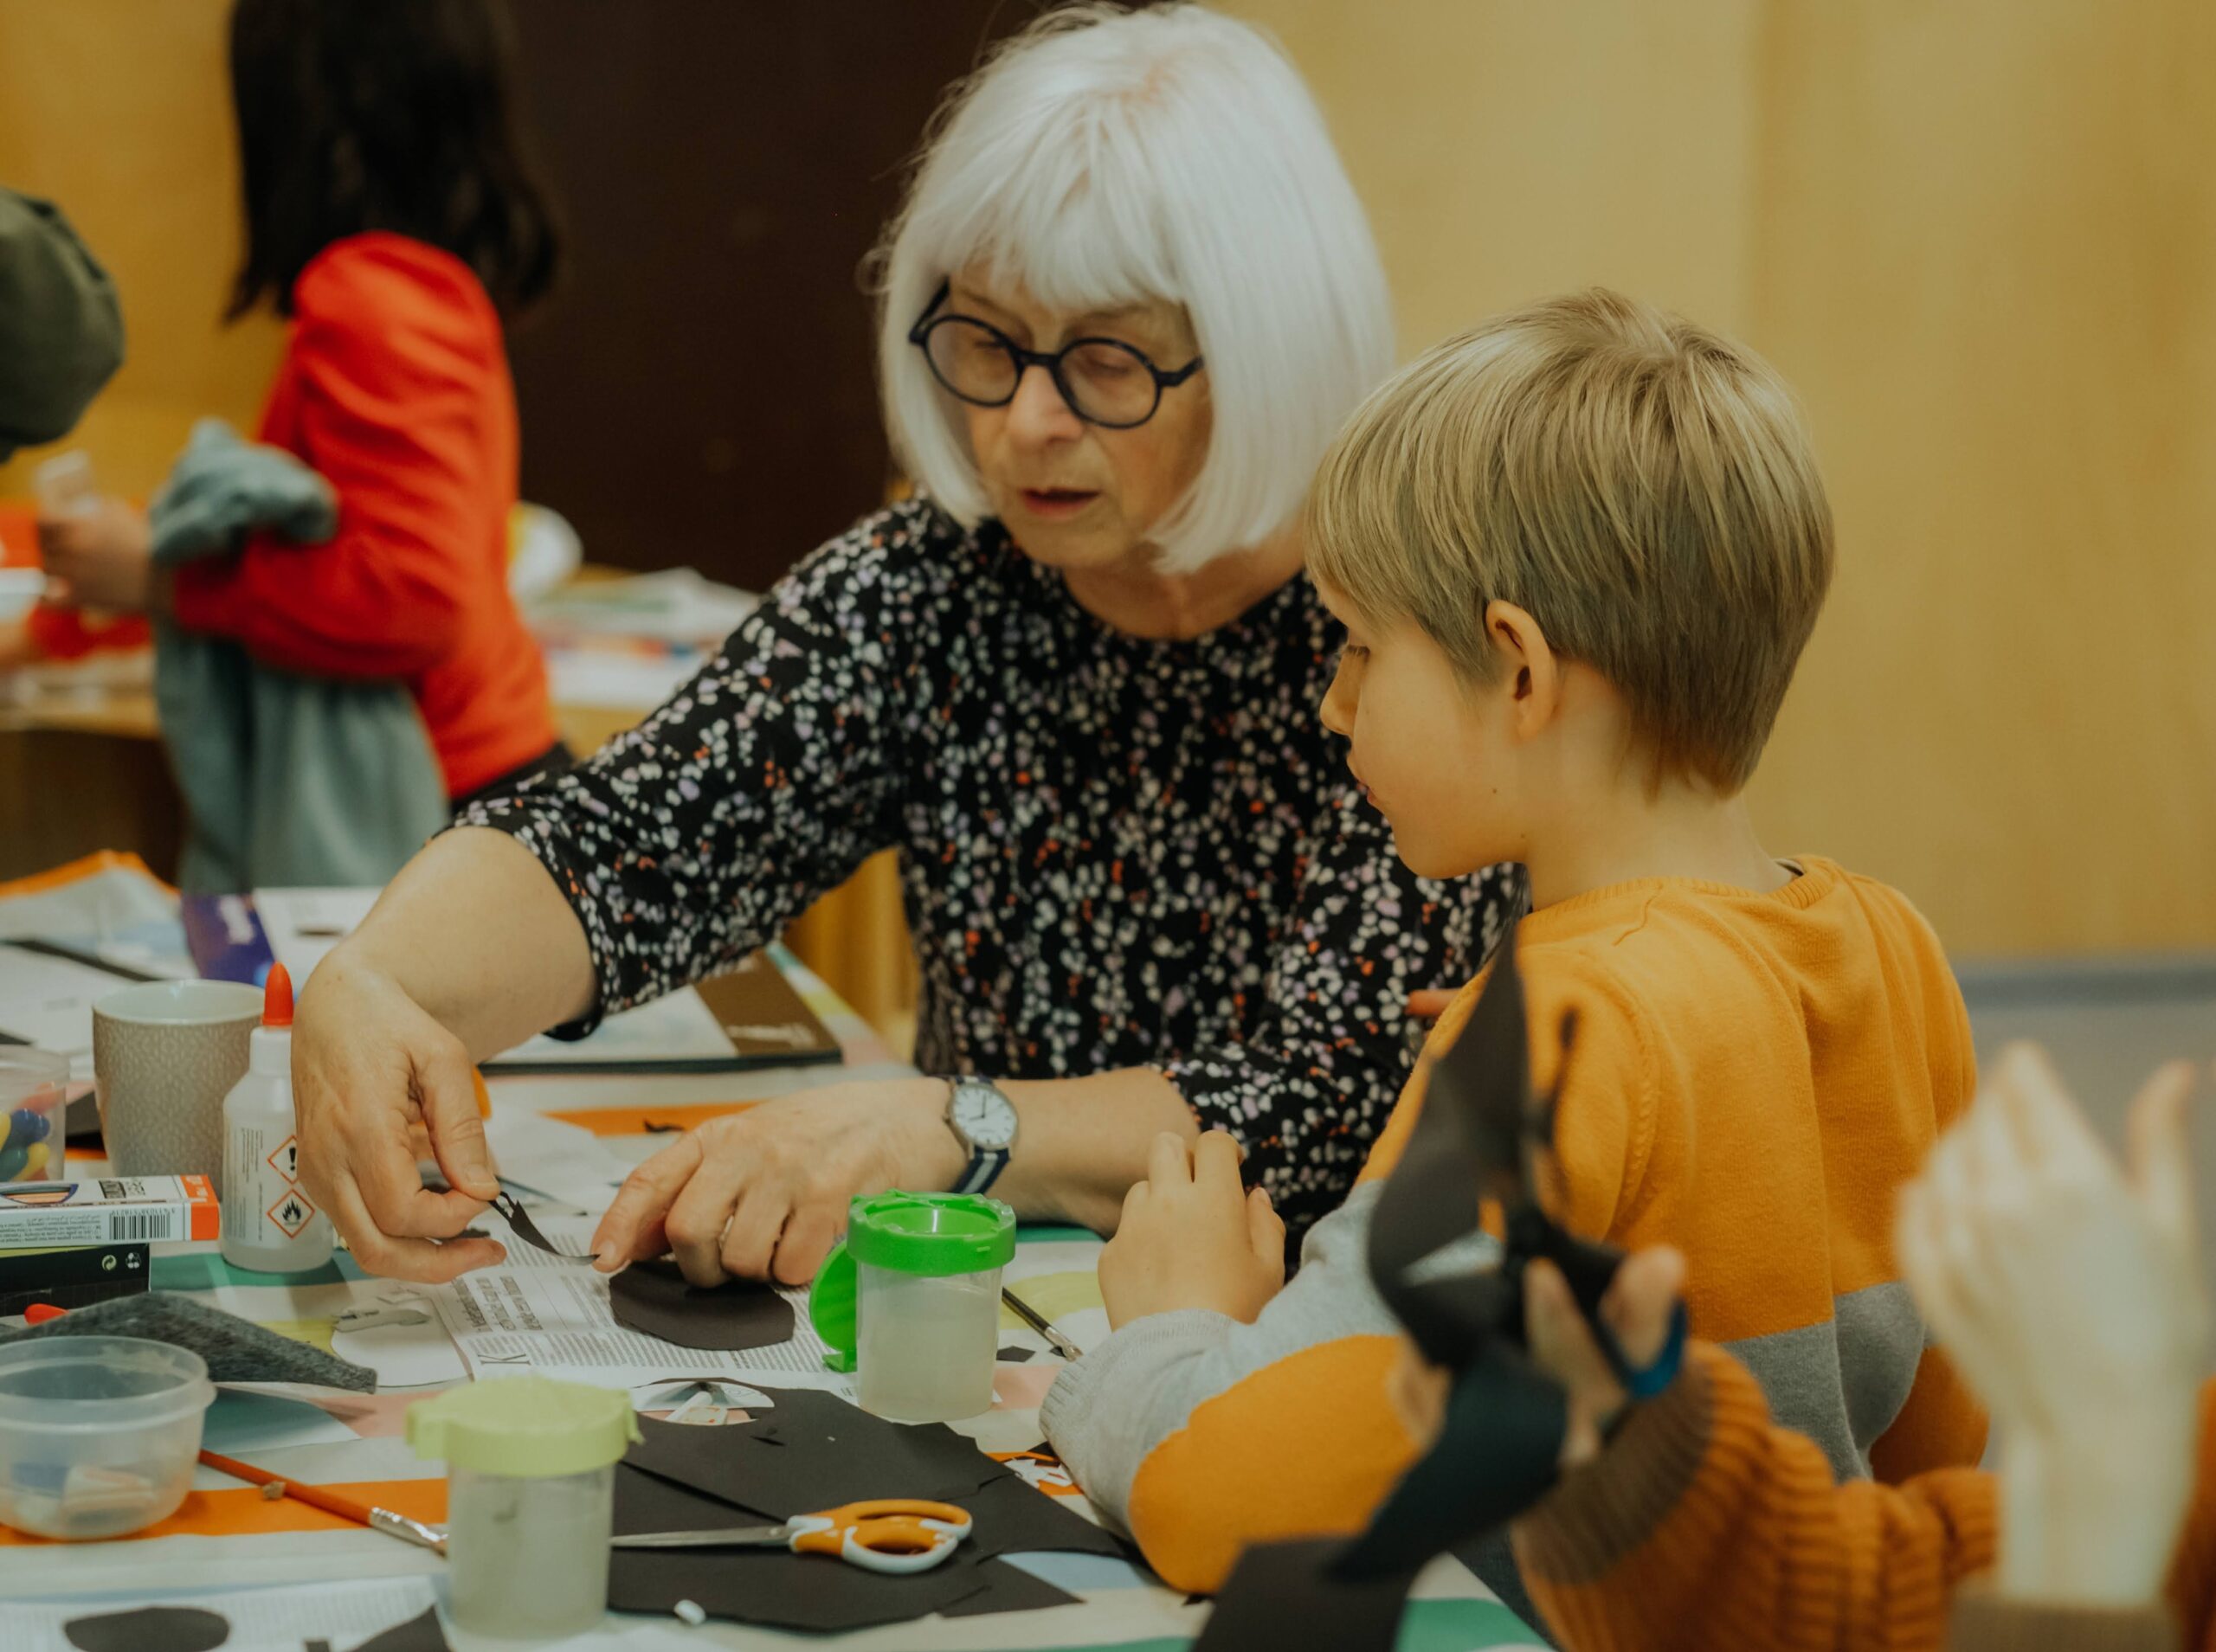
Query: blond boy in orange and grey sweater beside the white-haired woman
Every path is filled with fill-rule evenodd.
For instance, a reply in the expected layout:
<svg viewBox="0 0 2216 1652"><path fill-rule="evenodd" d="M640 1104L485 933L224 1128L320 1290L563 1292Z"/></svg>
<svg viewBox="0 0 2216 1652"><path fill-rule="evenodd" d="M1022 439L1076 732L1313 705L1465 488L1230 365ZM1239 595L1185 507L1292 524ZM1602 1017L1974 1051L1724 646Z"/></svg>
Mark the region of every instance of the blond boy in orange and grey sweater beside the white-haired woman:
<svg viewBox="0 0 2216 1652"><path fill-rule="evenodd" d="M1892 1189L1974 1085L1961 994L1906 899L1771 859L1742 802L1833 565L1786 388L1613 292L1531 306L1354 414L1307 558L1347 622L1323 720L1401 857L1529 873L1536 1083L1578 1016L1556 1214L1680 1247L1693 1329L1835 1473L1974 1462L1983 1417L1888 1245ZM1290 1287L1228 1140L1163 1138L1124 1207L1101 1258L1117 1333L1044 1424L1177 1588L1217 1588L1254 1541L1361 1528L1412 1459L1363 1236L1423 1083Z"/></svg>

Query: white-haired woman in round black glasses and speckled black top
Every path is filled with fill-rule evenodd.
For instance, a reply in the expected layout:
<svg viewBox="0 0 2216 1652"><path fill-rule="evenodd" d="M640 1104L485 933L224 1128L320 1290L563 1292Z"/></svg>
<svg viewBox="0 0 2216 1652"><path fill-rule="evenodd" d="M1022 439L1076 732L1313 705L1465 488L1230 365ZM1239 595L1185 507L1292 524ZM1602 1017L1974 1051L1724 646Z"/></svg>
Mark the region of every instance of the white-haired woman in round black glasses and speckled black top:
<svg viewBox="0 0 2216 1652"><path fill-rule="evenodd" d="M496 1191L472 1054L729 966L886 846L937 1076L678 1138L603 1267L800 1282L884 1187L1106 1231L1152 1140L1212 1125L1301 1227L1405 1076L1407 994L1509 919L1505 873L1398 864L1316 720L1341 631L1294 509L1392 332L1274 47L1199 9L1046 18L957 95L880 297L920 498L804 558L592 762L468 810L317 970L301 1163L366 1267L499 1258L450 1238Z"/></svg>

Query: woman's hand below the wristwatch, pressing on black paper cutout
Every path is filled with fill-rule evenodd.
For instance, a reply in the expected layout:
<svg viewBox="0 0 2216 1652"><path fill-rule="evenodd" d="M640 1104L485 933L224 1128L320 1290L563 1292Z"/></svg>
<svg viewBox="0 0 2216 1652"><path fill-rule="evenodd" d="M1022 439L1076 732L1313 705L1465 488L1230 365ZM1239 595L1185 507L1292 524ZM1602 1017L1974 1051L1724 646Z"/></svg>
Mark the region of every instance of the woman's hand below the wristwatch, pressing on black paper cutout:
<svg viewBox="0 0 2216 1652"><path fill-rule="evenodd" d="M625 1178L592 1236L603 1271L674 1251L694 1284L807 1284L858 1194L953 1187L968 1156L944 1078L802 1090L711 1118Z"/></svg>

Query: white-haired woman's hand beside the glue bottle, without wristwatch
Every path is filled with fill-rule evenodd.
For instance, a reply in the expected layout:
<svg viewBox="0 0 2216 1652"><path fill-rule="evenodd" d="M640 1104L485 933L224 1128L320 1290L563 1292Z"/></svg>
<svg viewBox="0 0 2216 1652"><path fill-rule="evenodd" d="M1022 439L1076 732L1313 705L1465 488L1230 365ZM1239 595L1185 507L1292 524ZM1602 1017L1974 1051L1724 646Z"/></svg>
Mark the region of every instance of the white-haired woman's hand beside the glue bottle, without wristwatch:
<svg viewBox="0 0 2216 1652"><path fill-rule="evenodd" d="M293 1105L308 1198L370 1273L441 1282L505 1258L496 1240L454 1238L501 1191L470 1052L388 974L335 952L310 977L293 1025ZM454 1191L423 1187L425 1132Z"/></svg>

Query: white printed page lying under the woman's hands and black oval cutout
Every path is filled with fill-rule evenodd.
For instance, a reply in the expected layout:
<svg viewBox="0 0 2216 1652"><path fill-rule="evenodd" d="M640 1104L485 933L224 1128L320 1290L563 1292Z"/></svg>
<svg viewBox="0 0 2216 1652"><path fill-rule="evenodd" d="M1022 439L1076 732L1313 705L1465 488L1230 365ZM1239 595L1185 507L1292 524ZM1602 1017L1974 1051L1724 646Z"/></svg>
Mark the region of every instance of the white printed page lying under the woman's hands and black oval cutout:
<svg viewBox="0 0 2216 1652"><path fill-rule="evenodd" d="M494 1218L496 1220L496 1218ZM547 1218L550 1242L581 1253L589 1218ZM769 1388L829 1388L853 1397L853 1377L824 1369L807 1291L787 1291L793 1338L771 1349L680 1349L625 1331L607 1302L607 1276L507 1238L507 1262L425 1291L472 1377L550 1375L603 1388L674 1377L727 1377Z"/></svg>

